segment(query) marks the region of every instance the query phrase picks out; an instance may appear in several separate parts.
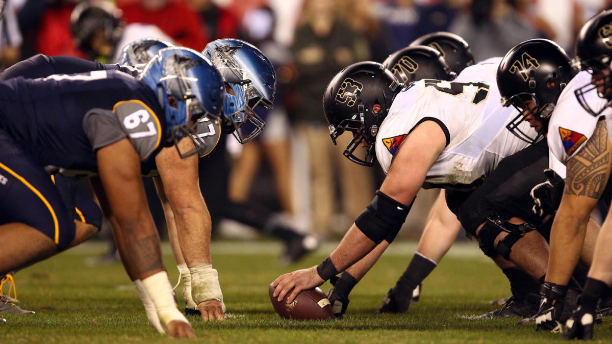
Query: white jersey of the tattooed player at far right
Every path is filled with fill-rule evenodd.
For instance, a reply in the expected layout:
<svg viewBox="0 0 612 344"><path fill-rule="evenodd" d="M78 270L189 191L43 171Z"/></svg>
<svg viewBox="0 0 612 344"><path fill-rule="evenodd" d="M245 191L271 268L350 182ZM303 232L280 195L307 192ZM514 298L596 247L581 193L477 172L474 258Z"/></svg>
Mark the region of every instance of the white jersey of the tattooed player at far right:
<svg viewBox="0 0 612 344"><path fill-rule="evenodd" d="M554 156L562 165L566 165L567 161L585 146L593 135L599 120L599 116L592 116L584 110L574 94L576 89L589 83L591 83L589 72L583 71L573 77L559 95L559 100L548 123L548 149L551 153L551 160ZM595 91L588 92L585 97L586 101L595 107L603 106L606 102ZM610 111L608 108L602 115L610 114ZM606 116L606 118L609 117ZM608 130L610 129L608 125ZM565 171L558 163L551 161L550 167L560 176L565 176Z"/></svg>

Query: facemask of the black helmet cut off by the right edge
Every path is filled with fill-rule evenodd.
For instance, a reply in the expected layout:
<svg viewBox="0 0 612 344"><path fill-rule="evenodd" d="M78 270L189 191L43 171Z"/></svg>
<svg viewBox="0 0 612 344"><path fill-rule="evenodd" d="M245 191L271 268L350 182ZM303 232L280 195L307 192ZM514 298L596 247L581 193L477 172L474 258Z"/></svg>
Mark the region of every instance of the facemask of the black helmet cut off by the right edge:
<svg viewBox="0 0 612 344"><path fill-rule="evenodd" d="M608 56L588 59L577 63L580 65L581 70L587 70L591 73L591 83L577 88L574 94L581 107L584 108L584 111L592 116L599 116L603 110L612 105L612 69L610 63L611 61ZM606 99L608 102L603 105L589 104L587 94L593 91L597 92L599 98Z"/></svg>

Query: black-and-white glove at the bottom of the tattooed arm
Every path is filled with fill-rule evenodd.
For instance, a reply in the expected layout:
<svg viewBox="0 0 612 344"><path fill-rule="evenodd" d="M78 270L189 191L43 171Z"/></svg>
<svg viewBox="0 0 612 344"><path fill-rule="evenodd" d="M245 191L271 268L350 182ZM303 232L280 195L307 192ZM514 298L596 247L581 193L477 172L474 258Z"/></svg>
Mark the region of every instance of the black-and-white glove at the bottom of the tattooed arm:
<svg viewBox="0 0 612 344"><path fill-rule="evenodd" d="M567 286L544 283L540 287L540 308L535 318L535 331L561 332L561 312Z"/></svg>

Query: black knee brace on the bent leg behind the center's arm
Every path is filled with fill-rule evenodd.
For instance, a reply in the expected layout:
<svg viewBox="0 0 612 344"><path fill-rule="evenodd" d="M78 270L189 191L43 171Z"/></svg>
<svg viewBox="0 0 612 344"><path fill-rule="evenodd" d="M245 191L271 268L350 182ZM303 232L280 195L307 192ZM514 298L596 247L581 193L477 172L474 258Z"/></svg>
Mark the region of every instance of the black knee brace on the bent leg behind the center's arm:
<svg viewBox="0 0 612 344"><path fill-rule="evenodd" d="M480 228L478 234L480 250L491 258L501 255L505 260L509 260L512 246L526 233L534 230L536 230L536 228L531 223L514 225L500 219L498 214L491 214L487 217L485 224ZM495 245L495 239L502 231L508 233L508 235Z"/></svg>

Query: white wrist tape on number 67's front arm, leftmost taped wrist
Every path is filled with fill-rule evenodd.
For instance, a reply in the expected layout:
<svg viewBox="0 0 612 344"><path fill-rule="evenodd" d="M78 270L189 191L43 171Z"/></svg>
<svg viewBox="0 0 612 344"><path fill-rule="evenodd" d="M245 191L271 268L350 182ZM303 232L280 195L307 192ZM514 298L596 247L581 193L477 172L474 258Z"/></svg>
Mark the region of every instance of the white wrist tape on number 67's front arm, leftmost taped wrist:
<svg viewBox="0 0 612 344"><path fill-rule="evenodd" d="M151 296L151 301L157 309L157 316L163 326L166 328L171 321L183 321L189 323L183 313L179 312L174 303L172 296L172 286L168 280L168 274L165 271L157 272L142 280L144 290Z"/></svg>

